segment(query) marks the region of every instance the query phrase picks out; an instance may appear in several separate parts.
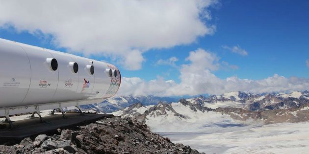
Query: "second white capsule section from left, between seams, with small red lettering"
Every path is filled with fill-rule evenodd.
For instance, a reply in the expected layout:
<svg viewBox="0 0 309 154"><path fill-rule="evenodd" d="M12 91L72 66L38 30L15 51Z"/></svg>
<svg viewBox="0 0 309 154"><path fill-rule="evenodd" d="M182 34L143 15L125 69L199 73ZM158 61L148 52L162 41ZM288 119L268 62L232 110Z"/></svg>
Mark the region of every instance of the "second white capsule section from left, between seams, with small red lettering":
<svg viewBox="0 0 309 154"><path fill-rule="evenodd" d="M26 98L19 106L53 102L52 97L58 86L58 69L52 71L47 59L54 57L40 47L20 46L26 51L30 60L31 82ZM23 67L22 63L20 67Z"/></svg>

